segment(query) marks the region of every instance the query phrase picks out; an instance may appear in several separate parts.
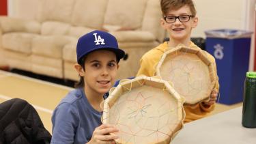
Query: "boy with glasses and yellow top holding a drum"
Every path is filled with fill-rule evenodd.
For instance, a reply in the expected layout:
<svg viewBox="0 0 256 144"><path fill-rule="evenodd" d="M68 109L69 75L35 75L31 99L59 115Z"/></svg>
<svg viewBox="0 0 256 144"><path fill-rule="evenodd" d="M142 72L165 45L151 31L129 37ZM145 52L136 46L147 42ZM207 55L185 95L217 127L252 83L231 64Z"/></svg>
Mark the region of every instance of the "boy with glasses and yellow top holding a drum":
<svg viewBox="0 0 256 144"><path fill-rule="evenodd" d="M161 0L160 1L162 18L161 25L169 34L169 42L164 42L148 51L141 58L141 68L137 76L143 74L146 76L154 76L156 65L160 61L160 57L167 48L175 48L177 44L184 44L190 48L199 49L193 42L190 41L190 35L193 28L197 27L198 18L195 10L195 5L192 0ZM205 52L207 53L207 52ZM215 65L214 57L207 53L208 57ZM216 69L215 69L216 74ZM217 75L217 74L216 74ZM217 76L218 77L218 76ZM210 101L201 102L194 106L184 106L186 117L184 122L193 121L205 117L208 113L214 110L214 104L218 93L218 81L210 95Z"/></svg>

